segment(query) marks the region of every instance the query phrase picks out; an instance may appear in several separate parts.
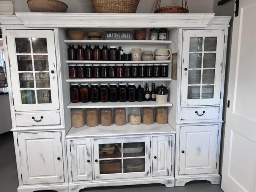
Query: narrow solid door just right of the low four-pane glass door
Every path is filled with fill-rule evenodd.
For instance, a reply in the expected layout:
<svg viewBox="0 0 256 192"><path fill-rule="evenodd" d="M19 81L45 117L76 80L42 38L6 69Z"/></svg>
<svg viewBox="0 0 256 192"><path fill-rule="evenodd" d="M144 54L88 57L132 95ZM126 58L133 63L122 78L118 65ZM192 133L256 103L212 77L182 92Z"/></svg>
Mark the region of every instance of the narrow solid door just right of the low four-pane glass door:
<svg viewBox="0 0 256 192"><path fill-rule="evenodd" d="M172 136L152 137L152 176L171 175Z"/></svg>

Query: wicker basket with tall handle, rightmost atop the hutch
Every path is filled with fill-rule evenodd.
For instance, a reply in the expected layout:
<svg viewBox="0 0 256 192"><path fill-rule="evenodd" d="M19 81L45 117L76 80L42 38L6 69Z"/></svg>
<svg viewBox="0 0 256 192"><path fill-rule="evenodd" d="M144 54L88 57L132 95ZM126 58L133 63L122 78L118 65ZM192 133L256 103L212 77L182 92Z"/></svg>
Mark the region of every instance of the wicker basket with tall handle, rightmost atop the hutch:
<svg viewBox="0 0 256 192"><path fill-rule="evenodd" d="M185 2L185 7L183 6ZM188 13L187 0L182 0L182 7L180 6L166 6L160 7L161 0L156 0L156 6L154 13Z"/></svg>

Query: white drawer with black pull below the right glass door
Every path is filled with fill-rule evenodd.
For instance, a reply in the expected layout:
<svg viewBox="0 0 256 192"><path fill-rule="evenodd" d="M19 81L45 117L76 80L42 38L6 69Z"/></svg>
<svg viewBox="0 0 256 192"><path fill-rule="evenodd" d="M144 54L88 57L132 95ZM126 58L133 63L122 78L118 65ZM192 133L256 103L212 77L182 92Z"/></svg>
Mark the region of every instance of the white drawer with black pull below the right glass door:
<svg viewBox="0 0 256 192"><path fill-rule="evenodd" d="M219 107L181 108L180 120L218 120Z"/></svg>

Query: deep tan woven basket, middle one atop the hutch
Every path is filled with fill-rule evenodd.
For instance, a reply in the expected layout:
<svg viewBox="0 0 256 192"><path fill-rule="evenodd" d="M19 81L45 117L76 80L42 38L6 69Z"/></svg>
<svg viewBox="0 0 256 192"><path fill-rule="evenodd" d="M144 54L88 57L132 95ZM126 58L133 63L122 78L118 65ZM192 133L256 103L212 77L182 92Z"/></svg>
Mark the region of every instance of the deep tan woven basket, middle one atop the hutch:
<svg viewBox="0 0 256 192"><path fill-rule="evenodd" d="M91 0L94 13L136 13L140 0Z"/></svg>

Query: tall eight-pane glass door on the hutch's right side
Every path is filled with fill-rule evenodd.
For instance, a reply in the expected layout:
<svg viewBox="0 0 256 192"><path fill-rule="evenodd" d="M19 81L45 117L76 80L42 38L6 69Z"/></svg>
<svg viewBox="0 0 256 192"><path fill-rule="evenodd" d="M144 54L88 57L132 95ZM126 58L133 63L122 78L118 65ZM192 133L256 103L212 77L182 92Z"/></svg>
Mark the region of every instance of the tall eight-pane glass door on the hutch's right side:
<svg viewBox="0 0 256 192"><path fill-rule="evenodd" d="M184 30L181 106L218 105L224 30Z"/></svg>

